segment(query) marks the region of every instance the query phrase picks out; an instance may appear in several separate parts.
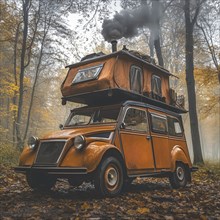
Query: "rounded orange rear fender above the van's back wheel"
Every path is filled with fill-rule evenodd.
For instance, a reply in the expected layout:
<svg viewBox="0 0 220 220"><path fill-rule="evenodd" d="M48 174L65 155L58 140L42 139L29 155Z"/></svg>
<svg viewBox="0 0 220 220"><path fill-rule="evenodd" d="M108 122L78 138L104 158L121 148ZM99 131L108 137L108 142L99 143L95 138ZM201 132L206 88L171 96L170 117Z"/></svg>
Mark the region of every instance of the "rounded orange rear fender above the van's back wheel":
<svg viewBox="0 0 220 220"><path fill-rule="evenodd" d="M185 152L179 145L174 146L171 151L171 170L173 172L175 171L177 161L187 164L189 167L191 166L191 162L187 159Z"/></svg>

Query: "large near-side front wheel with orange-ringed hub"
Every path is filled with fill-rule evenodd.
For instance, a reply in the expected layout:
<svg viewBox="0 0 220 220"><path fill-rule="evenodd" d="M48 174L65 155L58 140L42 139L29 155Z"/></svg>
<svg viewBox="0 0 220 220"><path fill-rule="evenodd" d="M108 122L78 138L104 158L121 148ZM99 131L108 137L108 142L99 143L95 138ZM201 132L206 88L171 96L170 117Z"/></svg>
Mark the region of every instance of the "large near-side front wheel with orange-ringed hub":
<svg viewBox="0 0 220 220"><path fill-rule="evenodd" d="M95 179L95 189L101 196L114 197L123 189L124 173L121 163L115 157L107 157L99 165Z"/></svg>

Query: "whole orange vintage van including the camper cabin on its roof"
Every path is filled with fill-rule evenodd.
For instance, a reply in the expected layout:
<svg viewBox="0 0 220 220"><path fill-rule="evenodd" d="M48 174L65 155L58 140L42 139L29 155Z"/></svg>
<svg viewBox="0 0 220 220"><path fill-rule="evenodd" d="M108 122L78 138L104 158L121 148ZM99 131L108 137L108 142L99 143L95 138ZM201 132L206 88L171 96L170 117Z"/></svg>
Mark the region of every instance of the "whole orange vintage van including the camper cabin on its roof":
<svg viewBox="0 0 220 220"><path fill-rule="evenodd" d="M179 114L186 111L169 88L172 74L128 51L68 67L62 103L86 106L73 109L60 131L29 139L15 171L31 188L48 190L66 178L115 196L136 177L166 177L173 188L191 181Z"/></svg>

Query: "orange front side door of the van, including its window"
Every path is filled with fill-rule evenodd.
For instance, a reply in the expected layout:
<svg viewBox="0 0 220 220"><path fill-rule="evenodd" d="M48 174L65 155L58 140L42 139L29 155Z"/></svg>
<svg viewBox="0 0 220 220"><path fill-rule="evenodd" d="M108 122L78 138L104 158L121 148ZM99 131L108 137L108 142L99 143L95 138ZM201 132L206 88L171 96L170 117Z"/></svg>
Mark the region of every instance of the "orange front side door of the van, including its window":
<svg viewBox="0 0 220 220"><path fill-rule="evenodd" d="M128 107L120 128L128 173L154 171L154 157L145 109Z"/></svg>

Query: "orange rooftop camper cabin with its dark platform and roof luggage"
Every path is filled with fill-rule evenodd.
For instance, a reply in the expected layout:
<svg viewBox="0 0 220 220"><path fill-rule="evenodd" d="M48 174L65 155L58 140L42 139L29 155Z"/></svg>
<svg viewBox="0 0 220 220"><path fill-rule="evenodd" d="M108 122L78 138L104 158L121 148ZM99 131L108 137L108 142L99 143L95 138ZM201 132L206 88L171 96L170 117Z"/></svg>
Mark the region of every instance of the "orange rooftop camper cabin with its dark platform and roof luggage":
<svg viewBox="0 0 220 220"><path fill-rule="evenodd" d="M149 56L123 49L108 55L88 55L67 67L69 71L61 86L63 104L73 101L96 105L129 99L185 112L169 86L173 75Z"/></svg>

